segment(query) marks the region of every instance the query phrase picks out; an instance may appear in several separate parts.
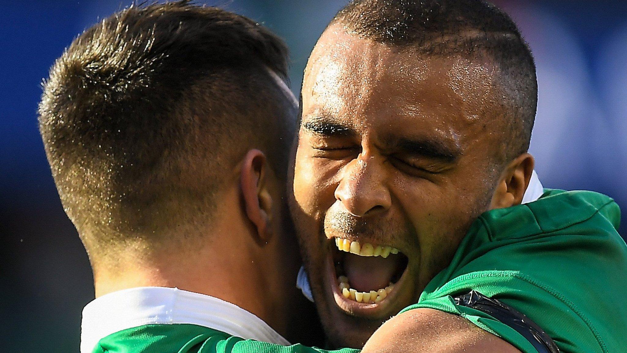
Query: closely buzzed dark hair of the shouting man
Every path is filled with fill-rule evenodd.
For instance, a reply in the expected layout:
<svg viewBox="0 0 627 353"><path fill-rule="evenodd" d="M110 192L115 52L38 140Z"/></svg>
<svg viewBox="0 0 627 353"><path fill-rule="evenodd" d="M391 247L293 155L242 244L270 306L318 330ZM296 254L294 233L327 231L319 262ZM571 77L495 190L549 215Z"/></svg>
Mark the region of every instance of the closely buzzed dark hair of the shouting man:
<svg viewBox="0 0 627 353"><path fill-rule="evenodd" d="M529 149L537 109L535 63L514 21L483 0L354 0L329 24L420 55L490 60L499 74L509 161Z"/></svg>

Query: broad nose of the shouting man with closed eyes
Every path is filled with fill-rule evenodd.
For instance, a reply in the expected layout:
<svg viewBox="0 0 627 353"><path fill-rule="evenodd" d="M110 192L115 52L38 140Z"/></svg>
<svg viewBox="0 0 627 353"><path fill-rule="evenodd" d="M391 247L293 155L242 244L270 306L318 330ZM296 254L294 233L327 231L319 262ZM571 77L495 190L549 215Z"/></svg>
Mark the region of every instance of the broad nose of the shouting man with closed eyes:
<svg viewBox="0 0 627 353"><path fill-rule="evenodd" d="M381 161L368 156L359 155L350 161L335 189L335 199L358 217L389 209L392 200L382 167Z"/></svg>

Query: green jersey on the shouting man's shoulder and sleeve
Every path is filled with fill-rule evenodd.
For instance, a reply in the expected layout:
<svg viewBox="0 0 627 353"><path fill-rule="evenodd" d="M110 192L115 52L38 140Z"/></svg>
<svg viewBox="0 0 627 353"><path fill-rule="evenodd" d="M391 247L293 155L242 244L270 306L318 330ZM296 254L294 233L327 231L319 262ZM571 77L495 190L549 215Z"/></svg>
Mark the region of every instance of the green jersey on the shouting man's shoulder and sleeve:
<svg viewBox="0 0 627 353"><path fill-rule="evenodd" d="M545 189L530 204L485 212L450 266L413 308L461 315L525 353L517 331L487 313L457 305L475 290L524 313L564 353L627 352L627 246L618 205L587 191Z"/></svg>

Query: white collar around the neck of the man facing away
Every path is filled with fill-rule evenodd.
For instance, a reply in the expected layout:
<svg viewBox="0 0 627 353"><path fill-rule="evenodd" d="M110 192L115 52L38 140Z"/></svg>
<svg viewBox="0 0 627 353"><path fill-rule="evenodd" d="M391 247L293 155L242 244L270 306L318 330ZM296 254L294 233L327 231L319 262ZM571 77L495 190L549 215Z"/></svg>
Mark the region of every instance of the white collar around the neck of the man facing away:
<svg viewBox="0 0 627 353"><path fill-rule="evenodd" d="M139 287L100 296L83 308L81 353L100 339L151 323L192 323L229 335L289 345L261 318L213 296L166 287Z"/></svg>

